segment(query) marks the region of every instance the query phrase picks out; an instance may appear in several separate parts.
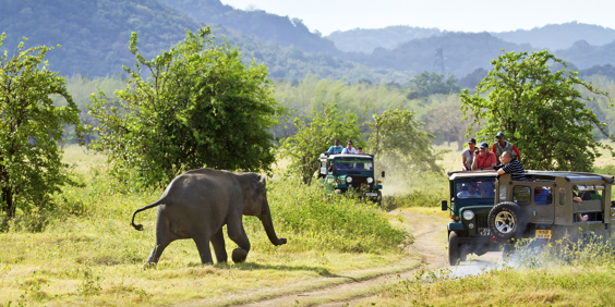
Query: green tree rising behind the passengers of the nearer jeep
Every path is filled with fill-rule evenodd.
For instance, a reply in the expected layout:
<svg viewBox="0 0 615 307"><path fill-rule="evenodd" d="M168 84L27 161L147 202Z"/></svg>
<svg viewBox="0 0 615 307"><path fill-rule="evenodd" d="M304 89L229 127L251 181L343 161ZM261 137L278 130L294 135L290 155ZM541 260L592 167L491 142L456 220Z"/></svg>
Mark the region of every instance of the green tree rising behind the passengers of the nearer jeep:
<svg viewBox="0 0 615 307"><path fill-rule="evenodd" d="M477 94L466 89L460 96L465 120L473 116L468 131L481 126L477 136L483 140L505 132L521 151L526 169L591 171L598 148L613 154L593 134L595 128L614 139L586 108L583 100L593 98L583 97L578 88L593 95L607 96L606 91L580 81L577 72L551 72L550 63L566 63L548 51L508 52L491 63L494 67L477 86Z"/></svg>

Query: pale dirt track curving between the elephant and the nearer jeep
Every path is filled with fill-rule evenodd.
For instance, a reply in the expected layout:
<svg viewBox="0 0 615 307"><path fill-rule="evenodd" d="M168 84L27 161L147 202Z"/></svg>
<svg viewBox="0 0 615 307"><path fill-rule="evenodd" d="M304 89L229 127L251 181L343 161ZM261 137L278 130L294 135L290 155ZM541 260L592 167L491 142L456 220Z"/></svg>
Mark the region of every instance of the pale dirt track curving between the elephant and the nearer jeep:
<svg viewBox="0 0 615 307"><path fill-rule="evenodd" d="M228 306L236 305L232 302L251 300L249 304L241 306L352 306L363 304L373 295L376 295L387 283L396 283L401 280L413 278L419 269L439 269L447 268L447 237L446 223L448 219L433 216L420 216L409 213L408 211L393 211L390 214L400 214L405 217L407 229L414 236L414 244L409 248L411 254L419 258L420 265L413 266L412 261L405 265L406 269L393 269L389 272L382 273L387 268L376 268L374 270L364 270L353 272L345 277L338 277L335 285L330 285L330 279L311 281L303 284L287 285L284 290L273 288L268 293L261 293L260 297L264 299L255 300L252 294L238 294L233 297L226 297L221 300L195 300L193 304L182 304L182 306ZM482 257L473 255L468 257L468 262L460 266L448 267L454 274L463 275L481 272L483 268L494 266L502 259L501 253L487 253ZM474 259L472 259L474 258ZM374 278L362 278L365 275L375 275ZM328 282L328 283L327 283ZM293 288L297 288L294 291ZM300 288L312 288L301 291ZM285 293L285 294L280 294ZM369 304L367 304L369 305Z"/></svg>

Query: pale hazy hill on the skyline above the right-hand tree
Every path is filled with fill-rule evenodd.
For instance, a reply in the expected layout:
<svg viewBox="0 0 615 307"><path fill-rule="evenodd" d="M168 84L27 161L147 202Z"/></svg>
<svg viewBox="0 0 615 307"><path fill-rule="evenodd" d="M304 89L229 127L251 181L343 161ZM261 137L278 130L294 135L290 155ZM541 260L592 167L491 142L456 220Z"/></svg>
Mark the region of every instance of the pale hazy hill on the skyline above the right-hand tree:
<svg viewBox="0 0 615 307"><path fill-rule="evenodd" d="M530 44L539 49L567 49L575 41L586 40L590 45L602 46L615 40L615 29L577 22L545 25L532 29L492 33L493 36L515 44Z"/></svg>

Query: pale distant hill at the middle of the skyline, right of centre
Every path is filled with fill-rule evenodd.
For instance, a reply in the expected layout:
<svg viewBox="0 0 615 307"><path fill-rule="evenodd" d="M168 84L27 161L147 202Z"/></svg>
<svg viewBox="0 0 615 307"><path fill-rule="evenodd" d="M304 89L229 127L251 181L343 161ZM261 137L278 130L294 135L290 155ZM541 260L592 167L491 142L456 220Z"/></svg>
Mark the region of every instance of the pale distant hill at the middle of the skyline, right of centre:
<svg viewBox="0 0 615 307"><path fill-rule="evenodd" d="M435 27L389 26L385 28L336 30L326 38L333 40L335 47L341 51L372 53L376 48L395 49L412 39L441 34L442 32Z"/></svg>

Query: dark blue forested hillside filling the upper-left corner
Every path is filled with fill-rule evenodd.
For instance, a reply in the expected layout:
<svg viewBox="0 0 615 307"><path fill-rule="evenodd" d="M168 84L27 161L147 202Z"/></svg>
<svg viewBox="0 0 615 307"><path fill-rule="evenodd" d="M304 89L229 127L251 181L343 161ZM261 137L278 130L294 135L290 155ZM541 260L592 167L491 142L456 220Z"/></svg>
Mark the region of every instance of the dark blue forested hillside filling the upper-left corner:
<svg viewBox="0 0 615 307"><path fill-rule="evenodd" d="M132 65L128 51L131 32L138 33L146 57L168 49L202 24L156 0L61 1L0 0L3 50L13 51L23 37L26 48L62 47L49 52L49 69L63 75L104 76Z"/></svg>

